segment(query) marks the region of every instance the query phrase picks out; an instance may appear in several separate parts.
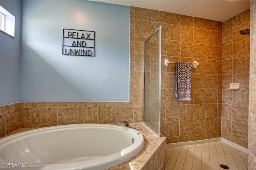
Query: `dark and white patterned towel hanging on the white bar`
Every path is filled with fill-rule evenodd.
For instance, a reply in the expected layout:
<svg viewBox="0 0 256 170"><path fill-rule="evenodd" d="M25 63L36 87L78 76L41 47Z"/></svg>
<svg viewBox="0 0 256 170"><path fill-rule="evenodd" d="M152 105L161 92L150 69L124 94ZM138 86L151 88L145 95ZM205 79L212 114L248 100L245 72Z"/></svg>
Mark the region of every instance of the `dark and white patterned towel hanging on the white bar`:
<svg viewBox="0 0 256 170"><path fill-rule="evenodd" d="M176 62L176 100L191 100L191 77L192 77L192 63Z"/></svg>

